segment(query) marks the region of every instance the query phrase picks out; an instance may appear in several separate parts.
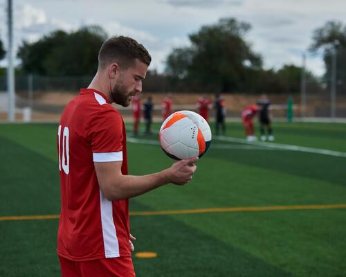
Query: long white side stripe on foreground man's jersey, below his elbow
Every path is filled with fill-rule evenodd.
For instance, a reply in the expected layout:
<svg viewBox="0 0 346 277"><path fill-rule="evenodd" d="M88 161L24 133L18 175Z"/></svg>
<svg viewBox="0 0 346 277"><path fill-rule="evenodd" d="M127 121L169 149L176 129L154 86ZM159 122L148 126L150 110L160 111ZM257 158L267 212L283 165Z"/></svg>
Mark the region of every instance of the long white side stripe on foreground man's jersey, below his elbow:
<svg viewBox="0 0 346 277"><path fill-rule="evenodd" d="M113 222L112 202L104 197L100 190L101 223L104 244L104 256L106 258L120 257L119 242L116 237L116 226Z"/></svg>

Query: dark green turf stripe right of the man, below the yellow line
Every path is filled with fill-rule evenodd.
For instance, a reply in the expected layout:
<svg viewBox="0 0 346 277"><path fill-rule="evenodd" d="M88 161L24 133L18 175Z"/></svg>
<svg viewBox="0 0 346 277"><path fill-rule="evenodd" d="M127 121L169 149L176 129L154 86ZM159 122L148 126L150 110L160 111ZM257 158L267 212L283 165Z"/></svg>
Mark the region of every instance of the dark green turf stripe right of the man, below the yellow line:
<svg viewBox="0 0 346 277"><path fill-rule="evenodd" d="M135 199L131 207L149 210ZM158 255L133 258L138 276L291 276L170 216L132 216L130 222L137 238L136 252L154 251Z"/></svg>

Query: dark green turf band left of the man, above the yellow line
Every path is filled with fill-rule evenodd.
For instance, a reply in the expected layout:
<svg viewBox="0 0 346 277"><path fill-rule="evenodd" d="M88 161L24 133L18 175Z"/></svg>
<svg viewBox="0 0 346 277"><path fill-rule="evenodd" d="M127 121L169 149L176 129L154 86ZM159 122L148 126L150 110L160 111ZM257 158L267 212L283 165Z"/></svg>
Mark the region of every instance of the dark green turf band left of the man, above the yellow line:
<svg viewBox="0 0 346 277"><path fill-rule="evenodd" d="M57 162L0 136L0 215L60 211Z"/></svg>

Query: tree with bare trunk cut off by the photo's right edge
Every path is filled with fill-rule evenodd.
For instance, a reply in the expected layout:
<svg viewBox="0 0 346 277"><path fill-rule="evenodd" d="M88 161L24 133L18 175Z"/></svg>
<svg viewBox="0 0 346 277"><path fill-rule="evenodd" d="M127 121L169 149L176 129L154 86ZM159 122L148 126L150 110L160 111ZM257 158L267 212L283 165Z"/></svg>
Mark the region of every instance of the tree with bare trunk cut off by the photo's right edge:
<svg viewBox="0 0 346 277"><path fill-rule="evenodd" d="M311 51L322 49L325 62L325 79L330 86L332 56L337 59L337 80L339 88L346 89L346 26L340 21L328 21L324 26L313 31ZM334 52L335 51L335 52ZM342 82L344 81L344 82Z"/></svg>

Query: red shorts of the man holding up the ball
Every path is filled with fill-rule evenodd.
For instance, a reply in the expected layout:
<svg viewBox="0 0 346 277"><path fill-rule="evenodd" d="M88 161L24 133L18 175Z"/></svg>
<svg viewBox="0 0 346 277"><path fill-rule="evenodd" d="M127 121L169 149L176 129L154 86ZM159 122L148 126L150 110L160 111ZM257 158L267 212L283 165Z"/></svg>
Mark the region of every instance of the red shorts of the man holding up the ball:
<svg viewBox="0 0 346 277"><path fill-rule="evenodd" d="M75 262L59 256L62 277L134 277L131 257Z"/></svg>

